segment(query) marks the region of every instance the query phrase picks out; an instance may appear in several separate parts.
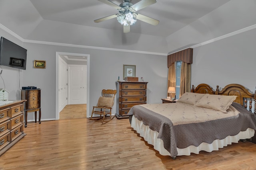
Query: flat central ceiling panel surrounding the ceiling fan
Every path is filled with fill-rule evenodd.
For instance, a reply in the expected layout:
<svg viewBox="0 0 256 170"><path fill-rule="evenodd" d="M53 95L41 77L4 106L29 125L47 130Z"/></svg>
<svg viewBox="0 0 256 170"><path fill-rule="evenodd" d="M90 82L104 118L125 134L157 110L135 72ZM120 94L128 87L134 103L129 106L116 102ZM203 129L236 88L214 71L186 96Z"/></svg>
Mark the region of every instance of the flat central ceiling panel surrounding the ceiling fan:
<svg viewBox="0 0 256 170"><path fill-rule="evenodd" d="M94 20L117 14L118 10L98 0L30 0L44 20L60 21L90 27L122 30L116 18L94 23ZM122 0L111 0L121 4ZM212 12L229 0L157 0L138 13L159 20L156 26L143 21L132 25L132 33L167 37L198 18ZM132 0L136 4L139 0Z"/></svg>

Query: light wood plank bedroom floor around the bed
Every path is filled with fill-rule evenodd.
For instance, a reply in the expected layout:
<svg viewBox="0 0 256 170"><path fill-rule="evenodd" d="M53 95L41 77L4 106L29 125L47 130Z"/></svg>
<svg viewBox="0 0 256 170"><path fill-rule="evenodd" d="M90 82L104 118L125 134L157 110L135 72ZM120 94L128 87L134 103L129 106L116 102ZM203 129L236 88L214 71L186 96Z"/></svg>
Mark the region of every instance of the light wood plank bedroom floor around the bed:
<svg viewBox="0 0 256 170"><path fill-rule="evenodd" d="M128 119L101 125L89 119L28 122L27 135L0 156L0 170L255 170L256 144L162 156Z"/></svg>

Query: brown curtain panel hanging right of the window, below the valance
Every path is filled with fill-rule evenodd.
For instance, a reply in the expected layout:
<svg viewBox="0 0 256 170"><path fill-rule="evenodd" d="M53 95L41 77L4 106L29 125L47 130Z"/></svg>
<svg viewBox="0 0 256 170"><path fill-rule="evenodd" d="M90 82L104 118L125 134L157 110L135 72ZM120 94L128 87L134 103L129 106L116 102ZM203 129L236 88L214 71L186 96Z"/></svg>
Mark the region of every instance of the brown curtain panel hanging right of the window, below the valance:
<svg viewBox="0 0 256 170"><path fill-rule="evenodd" d="M174 65L174 64L172 64ZM191 86L191 64L181 64L181 75L180 75L180 96L185 92L190 92Z"/></svg>

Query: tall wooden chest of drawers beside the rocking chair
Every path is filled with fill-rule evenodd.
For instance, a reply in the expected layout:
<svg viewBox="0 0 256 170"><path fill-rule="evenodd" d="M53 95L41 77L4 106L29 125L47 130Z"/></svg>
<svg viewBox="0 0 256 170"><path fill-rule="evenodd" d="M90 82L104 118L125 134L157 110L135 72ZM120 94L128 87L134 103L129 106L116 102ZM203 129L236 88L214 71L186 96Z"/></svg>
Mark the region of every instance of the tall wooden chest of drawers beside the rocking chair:
<svg viewBox="0 0 256 170"><path fill-rule="evenodd" d="M116 117L129 118L132 106L147 103L148 82L116 82Z"/></svg>

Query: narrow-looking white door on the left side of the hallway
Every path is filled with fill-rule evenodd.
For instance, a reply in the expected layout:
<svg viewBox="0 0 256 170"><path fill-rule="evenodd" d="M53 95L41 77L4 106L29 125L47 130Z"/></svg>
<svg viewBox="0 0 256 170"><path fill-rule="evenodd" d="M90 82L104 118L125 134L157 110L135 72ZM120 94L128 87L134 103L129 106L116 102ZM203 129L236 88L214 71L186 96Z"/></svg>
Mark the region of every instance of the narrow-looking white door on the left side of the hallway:
<svg viewBox="0 0 256 170"><path fill-rule="evenodd" d="M59 58L59 112L68 104L68 64Z"/></svg>

